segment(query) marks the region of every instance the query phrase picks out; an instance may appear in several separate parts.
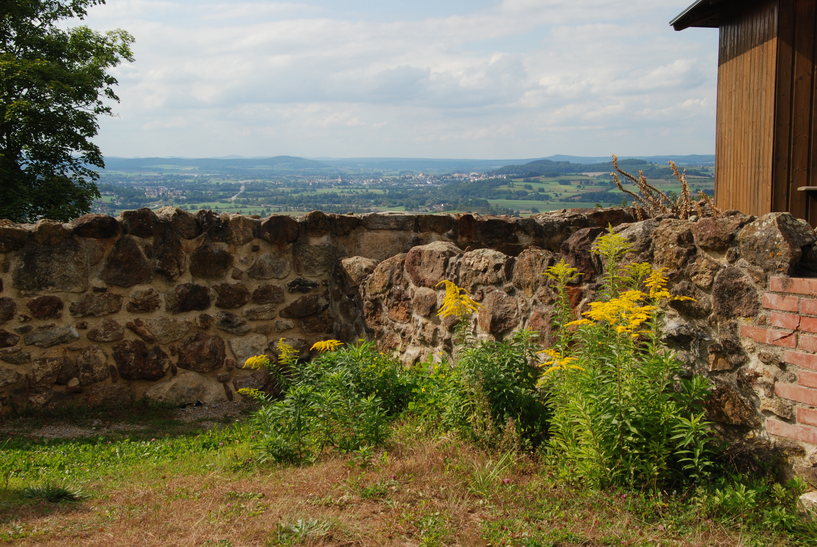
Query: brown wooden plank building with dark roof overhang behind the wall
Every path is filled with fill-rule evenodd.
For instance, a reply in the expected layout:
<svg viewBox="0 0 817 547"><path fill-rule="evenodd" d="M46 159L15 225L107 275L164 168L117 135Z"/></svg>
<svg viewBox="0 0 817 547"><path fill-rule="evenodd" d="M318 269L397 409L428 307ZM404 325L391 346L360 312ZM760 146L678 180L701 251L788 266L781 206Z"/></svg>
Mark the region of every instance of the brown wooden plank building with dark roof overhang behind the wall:
<svg viewBox="0 0 817 547"><path fill-rule="evenodd" d="M670 24L720 29L717 206L817 226L817 0L698 0Z"/></svg>

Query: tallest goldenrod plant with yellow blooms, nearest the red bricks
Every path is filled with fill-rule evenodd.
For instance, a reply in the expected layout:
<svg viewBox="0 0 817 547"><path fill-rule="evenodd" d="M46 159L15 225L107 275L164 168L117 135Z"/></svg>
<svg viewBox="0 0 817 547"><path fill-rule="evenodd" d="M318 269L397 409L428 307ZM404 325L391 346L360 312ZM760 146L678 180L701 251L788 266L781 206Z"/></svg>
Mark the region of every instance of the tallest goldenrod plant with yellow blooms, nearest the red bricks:
<svg viewBox="0 0 817 547"><path fill-rule="evenodd" d="M627 250L620 236L601 236L593 250L605 258L600 294L607 298L583 318L557 325L569 343L540 354L551 409L547 452L565 474L592 484L657 491L702 481L712 467L702 410L708 381L684 377L660 329L661 307L686 297L667 291L665 269L619 268ZM564 269L548 273L564 280ZM566 285L557 282L560 295Z"/></svg>

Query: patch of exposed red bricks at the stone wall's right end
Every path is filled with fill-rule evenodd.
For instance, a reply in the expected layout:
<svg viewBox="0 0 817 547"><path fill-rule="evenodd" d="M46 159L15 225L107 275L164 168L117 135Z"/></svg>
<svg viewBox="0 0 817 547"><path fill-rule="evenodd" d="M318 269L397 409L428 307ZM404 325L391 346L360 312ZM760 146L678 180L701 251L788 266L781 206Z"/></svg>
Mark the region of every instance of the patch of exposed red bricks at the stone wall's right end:
<svg viewBox="0 0 817 547"><path fill-rule="evenodd" d="M773 435L817 444L817 279L771 278L763 295L770 310L766 327L744 325L741 336L761 344L782 346L784 361L797 371L797 383L775 383L775 395L797 404L796 423L766 420Z"/></svg>

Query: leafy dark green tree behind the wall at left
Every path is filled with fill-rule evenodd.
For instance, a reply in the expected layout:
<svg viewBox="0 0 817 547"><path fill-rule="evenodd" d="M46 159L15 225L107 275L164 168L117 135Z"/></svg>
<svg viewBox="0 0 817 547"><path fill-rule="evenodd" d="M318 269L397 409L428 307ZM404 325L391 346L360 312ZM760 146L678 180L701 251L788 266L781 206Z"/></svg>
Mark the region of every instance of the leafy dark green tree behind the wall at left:
<svg viewBox="0 0 817 547"><path fill-rule="evenodd" d="M70 220L100 196L92 167L105 163L89 139L118 101L109 69L133 60L133 37L60 22L101 3L0 2L0 218Z"/></svg>

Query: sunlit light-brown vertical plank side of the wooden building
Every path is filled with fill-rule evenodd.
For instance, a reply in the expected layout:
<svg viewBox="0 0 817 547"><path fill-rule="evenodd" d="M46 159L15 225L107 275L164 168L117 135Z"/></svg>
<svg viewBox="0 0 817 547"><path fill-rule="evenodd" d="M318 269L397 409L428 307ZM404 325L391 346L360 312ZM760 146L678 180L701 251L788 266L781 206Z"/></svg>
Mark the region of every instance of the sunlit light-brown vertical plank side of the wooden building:
<svg viewBox="0 0 817 547"><path fill-rule="evenodd" d="M736 3L721 15L715 199L763 215L772 206L778 0Z"/></svg>

